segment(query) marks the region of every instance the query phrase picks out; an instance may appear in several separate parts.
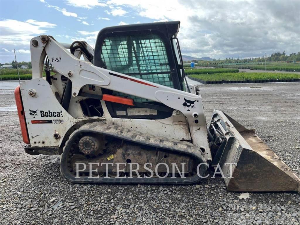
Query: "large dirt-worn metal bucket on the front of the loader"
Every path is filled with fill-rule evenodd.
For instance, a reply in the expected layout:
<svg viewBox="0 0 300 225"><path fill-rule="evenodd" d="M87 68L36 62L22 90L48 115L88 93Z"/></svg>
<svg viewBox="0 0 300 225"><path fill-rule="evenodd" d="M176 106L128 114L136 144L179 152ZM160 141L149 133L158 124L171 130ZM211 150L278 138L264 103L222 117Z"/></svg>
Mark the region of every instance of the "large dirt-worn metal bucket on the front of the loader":
<svg viewBox="0 0 300 225"><path fill-rule="evenodd" d="M218 172L222 170L229 191L300 190L300 179L255 135L254 129L248 130L214 110L208 137L212 166Z"/></svg>

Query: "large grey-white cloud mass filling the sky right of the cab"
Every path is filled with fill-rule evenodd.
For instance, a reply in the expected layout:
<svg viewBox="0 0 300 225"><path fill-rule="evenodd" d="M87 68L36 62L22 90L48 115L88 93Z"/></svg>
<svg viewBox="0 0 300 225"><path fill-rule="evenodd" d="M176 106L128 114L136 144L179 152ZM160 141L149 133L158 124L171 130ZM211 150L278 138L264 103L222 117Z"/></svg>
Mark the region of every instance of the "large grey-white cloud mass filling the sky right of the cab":
<svg viewBox="0 0 300 225"><path fill-rule="evenodd" d="M299 1L109 0L154 21L180 20L183 54L194 57L262 56L299 51ZM113 10L107 11L113 15ZM118 14L118 13L117 13ZM124 14L123 14L124 15Z"/></svg>

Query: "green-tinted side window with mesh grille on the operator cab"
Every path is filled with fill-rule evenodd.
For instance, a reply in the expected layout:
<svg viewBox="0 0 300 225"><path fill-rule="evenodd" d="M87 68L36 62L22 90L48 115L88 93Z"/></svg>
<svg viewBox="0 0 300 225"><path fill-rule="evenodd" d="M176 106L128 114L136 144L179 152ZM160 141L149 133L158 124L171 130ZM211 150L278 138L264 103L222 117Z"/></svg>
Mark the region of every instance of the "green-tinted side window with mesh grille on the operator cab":
<svg viewBox="0 0 300 225"><path fill-rule="evenodd" d="M158 35L107 37L102 45L101 59L109 70L174 87L167 50ZM122 93L116 95L122 96ZM147 101L129 97L135 101Z"/></svg>

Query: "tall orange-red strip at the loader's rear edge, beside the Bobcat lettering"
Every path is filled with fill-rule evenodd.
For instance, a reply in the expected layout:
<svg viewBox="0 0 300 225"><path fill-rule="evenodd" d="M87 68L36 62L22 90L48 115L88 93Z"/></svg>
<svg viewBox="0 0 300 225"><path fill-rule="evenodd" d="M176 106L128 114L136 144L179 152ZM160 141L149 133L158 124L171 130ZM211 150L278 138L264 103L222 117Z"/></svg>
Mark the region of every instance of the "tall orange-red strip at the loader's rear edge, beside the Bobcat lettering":
<svg viewBox="0 0 300 225"><path fill-rule="evenodd" d="M22 104L20 86L17 86L15 89L15 99L16 99L16 105L17 105L17 110L18 110L18 115L19 115L19 121L20 121L23 141L26 144L30 144L27 126L26 126L24 108L23 108L23 104Z"/></svg>

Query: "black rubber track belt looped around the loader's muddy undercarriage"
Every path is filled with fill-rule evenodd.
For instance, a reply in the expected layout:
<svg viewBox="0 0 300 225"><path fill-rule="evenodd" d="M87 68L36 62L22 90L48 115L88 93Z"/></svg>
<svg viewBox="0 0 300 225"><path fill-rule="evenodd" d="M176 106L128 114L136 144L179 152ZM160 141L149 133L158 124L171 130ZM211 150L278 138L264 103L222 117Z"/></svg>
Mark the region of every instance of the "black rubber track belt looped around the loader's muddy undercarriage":
<svg viewBox="0 0 300 225"><path fill-rule="evenodd" d="M199 182L201 179L197 174L188 176L186 178L88 178L87 176L81 178L74 178L74 175L70 173L67 167L67 159L72 146L72 143L76 140L76 137L82 132L91 132L95 134L103 134L110 137L127 140L133 143L138 143L146 146L152 146L155 148L166 149L179 154L190 155L192 158L197 158L199 163L206 163L203 153L197 149L192 143L183 142L176 139L168 139L165 137L157 137L154 135L143 134L138 131L132 131L125 129L118 125L108 124L103 121L87 123L74 131L63 149L60 159L61 174L73 183L98 183L98 184L193 184ZM199 174L204 175L207 170L206 165L202 165L199 170ZM195 171L196 172L196 171Z"/></svg>

